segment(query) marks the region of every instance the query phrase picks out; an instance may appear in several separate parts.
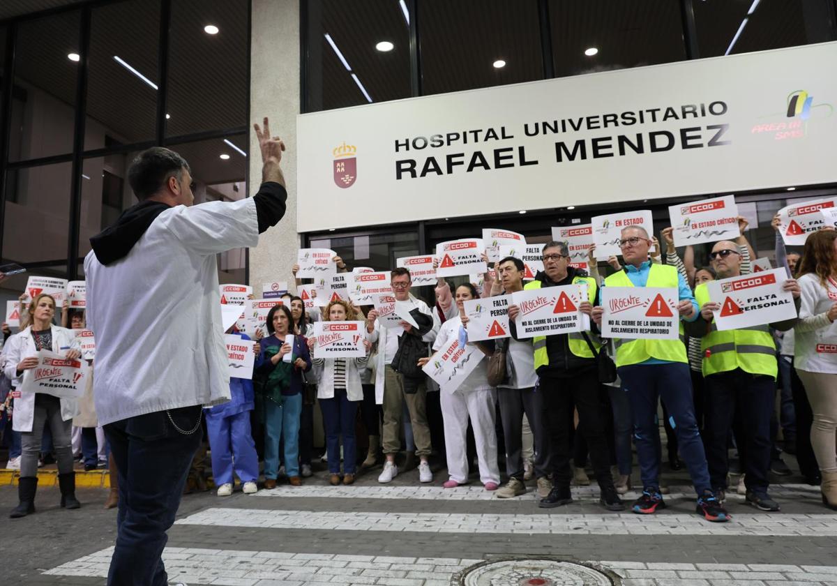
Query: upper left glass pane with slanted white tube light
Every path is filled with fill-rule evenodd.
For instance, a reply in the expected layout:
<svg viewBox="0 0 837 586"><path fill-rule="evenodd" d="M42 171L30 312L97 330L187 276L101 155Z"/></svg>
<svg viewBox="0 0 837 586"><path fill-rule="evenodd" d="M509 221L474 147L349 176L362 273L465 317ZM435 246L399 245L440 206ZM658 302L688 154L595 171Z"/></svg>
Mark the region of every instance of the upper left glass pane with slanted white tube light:
<svg viewBox="0 0 837 586"><path fill-rule="evenodd" d="M157 90L151 85L160 85L159 38L157 2L131 0L94 9L85 150L154 139Z"/></svg>

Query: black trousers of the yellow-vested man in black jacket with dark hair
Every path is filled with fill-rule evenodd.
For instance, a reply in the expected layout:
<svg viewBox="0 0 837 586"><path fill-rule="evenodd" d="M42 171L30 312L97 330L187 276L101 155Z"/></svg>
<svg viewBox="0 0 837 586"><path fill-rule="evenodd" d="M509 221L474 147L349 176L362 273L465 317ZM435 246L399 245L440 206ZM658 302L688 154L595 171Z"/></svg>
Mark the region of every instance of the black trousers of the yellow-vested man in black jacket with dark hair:
<svg viewBox="0 0 837 586"><path fill-rule="evenodd" d="M602 489L613 486L596 369L578 373L573 378L542 378L539 392L543 395L544 415L549 430L552 481L555 486L570 486L573 480L573 470L570 469L573 409L578 409L578 429L590 450L590 461L598 486Z"/></svg>

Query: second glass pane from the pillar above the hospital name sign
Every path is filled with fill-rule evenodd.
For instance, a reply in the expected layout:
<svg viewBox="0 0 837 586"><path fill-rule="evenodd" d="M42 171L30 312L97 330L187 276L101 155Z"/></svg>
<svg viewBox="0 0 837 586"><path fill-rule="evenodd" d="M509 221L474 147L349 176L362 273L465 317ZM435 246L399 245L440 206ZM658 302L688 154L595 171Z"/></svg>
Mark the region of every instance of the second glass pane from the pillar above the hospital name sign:
<svg viewBox="0 0 837 586"><path fill-rule="evenodd" d="M542 79L535 0L424 0L418 5L424 94ZM496 68L498 60L505 65Z"/></svg>

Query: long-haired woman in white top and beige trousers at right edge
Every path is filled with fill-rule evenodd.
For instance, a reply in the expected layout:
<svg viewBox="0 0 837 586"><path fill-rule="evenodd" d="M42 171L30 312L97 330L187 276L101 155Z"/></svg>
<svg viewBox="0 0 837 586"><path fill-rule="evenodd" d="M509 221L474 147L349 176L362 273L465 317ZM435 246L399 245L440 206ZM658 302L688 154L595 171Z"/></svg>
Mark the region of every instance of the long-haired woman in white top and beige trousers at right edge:
<svg viewBox="0 0 837 586"><path fill-rule="evenodd" d="M823 502L837 510L837 232L809 235L798 274L802 303L793 366L814 411L811 445L823 476Z"/></svg>

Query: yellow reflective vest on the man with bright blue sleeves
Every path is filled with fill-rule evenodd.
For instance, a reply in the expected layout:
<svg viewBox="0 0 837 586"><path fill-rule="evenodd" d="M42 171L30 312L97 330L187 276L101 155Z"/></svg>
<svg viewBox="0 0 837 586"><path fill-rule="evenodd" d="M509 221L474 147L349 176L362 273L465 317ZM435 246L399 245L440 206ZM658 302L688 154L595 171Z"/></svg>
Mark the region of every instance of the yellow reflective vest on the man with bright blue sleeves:
<svg viewBox="0 0 837 586"><path fill-rule="evenodd" d="M624 270L610 275L604 280L604 285L608 287L634 286ZM677 268L672 265L656 265L655 263L651 263L648 282L645 283L645 286L679 288L680 283L677 280ZM686 357L686 345L683 342L685 339L686 336L683 333L682 322L680 322L680 340L623 340L621 338L614 338L616 366L619 368L630 366L631 364L639 364L650 358L665 360L666 362L689 362L689 359Z"/></svg>

